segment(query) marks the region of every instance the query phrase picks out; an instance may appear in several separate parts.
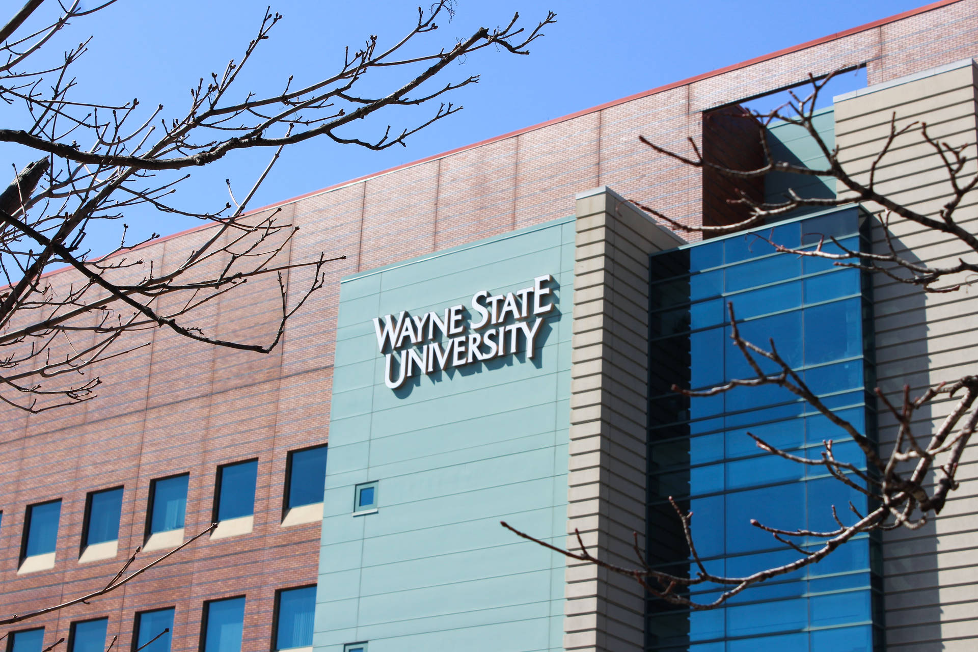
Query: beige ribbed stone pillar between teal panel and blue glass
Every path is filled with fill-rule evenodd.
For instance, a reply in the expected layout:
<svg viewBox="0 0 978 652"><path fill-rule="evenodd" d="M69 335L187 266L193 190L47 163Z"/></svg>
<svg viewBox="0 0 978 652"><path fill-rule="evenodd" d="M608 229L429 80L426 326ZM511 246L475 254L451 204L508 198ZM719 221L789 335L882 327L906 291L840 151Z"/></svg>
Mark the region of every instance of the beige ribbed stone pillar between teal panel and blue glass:
<svg viewBox="0 0 978 652"><path fill-rule="evenodd" d="M571 336L567 546L579 530L605 561L634 566L645 545L648 254L684 240L607 188L577 196ZM634 580L568 559L566 650L642 650Z"/></svg>

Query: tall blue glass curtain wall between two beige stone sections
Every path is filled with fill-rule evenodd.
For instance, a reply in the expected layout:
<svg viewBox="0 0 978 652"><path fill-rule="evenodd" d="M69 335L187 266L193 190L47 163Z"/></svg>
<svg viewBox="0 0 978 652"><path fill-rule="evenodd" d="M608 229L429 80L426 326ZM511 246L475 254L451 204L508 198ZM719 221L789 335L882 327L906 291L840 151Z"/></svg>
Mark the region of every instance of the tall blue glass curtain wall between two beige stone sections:
<svg viewBox="0 0 978 652"><path fill-rule="evenodd" d="M870 281L858 270L777 253L818 244L868 247L868 218L847 207L747 234L712 239L651 257L647 555L689 577L689 548L668 502L691 509L693 543L707 568L744 576L797 558L751 519L793 530L833 530L830 505L845 522L867 498L818 466L766 454L747 432L795 456L820 458L822 441L865 468L854 442L822 414L777 385L685 398L673 383L704 389L755 374L730 338L727 304L741 335L770 348L803 374L822 401L875 436ZM767 361L766 361L767 362ZM766 372L772 364L762 364ZM815 548L817 540L796 543ZM735 596L722 609L692 611L649 598L648 650L679 652L843 652L879 649L878 542L868 536L821 563ZM710 602L716 585L694 587Z"/></svg>

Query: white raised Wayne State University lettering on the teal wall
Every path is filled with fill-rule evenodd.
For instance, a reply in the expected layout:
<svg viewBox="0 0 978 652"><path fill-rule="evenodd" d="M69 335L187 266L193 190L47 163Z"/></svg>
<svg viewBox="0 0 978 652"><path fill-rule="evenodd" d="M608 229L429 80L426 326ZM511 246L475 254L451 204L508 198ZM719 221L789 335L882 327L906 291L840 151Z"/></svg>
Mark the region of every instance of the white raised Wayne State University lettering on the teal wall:
<svg viewBox="0 0 978 652"><path fill-rule="evenodd" d="M384 384L397 389L418 371L432 373L519 351L526 351L527 359L533 358L533 342L544 321L538 316L554 309L550 302L553 297L548 298L554 290L547 286L553 282L554 277L547 274L515 292L490 295L488 290L479 290L471 301L477 319L468 325L466 307L461 304L441 314L411 316L401 311L396 318L375 317L378 348L385 358ZM536 318L532 326L527 322L530 317ZM444 342L436 341L436 335L444 337ZM394 353L406 342L416 346L401 351L398 361ZM395 362L399 362L396 374Z"/></svg>

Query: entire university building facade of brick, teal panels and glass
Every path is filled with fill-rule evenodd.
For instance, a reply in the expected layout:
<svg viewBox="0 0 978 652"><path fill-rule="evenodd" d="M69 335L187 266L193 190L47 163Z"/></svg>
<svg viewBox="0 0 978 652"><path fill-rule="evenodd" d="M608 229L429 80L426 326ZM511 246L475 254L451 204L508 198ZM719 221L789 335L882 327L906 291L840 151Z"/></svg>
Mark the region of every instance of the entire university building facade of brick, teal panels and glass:
<svg viewBox="0 0 978 652"><path fill-rule="evenodd" d="M219 523L92 604L15 626L10 652L60 637L74 652L110 641L148 652L972 649L973 446L960 489L924 529L860 539L710 612L646 599L631 579L500 521L558 546L576 546L578 531L624 566L638 533L650 563L689 572L663 503L674 496L697 513L704 559L738 573L784 554L745 519L818 529L827 504L858 498L748 446L749 428L815 450L825 424L801 402L766 389L683 401L672 383L743 374L725 337L733 301L748 336L776 337L885 450L894 423L872 388L968 373L972 297L799 261L750 233L677 235L627 199L718 224L731 219L730 189L638 136L675 149L691 136L750 164L756 143L728 111L809 73L864 66L867 86L819 114L851 171L867 174L894 111L973 151L976 44L978 0L938 2L262 209L300 227L290 260L347 256L272 354L158 330L100 367L95 401L0 412L6 612L104 586L137 546L149 560ZM810 139L784 125L769 134L815 166ZM895 148L877 183L930 210L947 189L924 149ZM782 190L775 178L752 192ZM974 219L973 204L960 214ZM812 234L884 242L873 206L772 228L799 246ZM892 229L921 260L962 253ZM165 267L206 238L159 239L143 254ZM277 284L255 283L249 298L205 307L201 326L247 340L277 325Z"/></svg>

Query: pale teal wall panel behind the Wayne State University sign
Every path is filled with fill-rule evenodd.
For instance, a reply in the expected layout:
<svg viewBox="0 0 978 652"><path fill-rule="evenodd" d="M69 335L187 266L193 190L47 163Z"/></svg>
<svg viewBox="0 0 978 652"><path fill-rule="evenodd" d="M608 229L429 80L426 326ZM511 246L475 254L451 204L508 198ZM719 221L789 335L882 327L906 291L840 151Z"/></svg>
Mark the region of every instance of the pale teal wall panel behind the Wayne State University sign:
<svg viewBox="0 0 978 652"><path fill-rule="evenodd" d="M343 281L316 652L356 640L371 652L560 649L565 560L500 521L565 536L574 229L564 218ZM384 385L373 318L468 311L479 290L546 274L556 310L532 359ZM353 516L366 481L378 482L378 510Z"/></svg>

